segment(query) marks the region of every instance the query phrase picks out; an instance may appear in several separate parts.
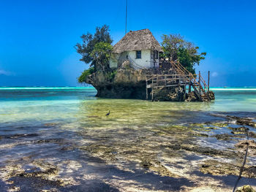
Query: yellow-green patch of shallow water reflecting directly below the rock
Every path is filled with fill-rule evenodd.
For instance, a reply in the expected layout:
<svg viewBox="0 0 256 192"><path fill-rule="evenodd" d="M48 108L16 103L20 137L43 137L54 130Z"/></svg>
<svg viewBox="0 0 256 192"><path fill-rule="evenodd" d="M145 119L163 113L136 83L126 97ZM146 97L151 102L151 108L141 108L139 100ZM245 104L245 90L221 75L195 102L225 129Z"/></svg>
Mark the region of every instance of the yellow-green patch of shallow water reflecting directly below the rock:
<svg viewBox="0 0 256 192"><path fill-rule="evenodd" d="M85 126L118 128L124 126L156 126L192 120L208 111L211 103L151 102L123 99L81 101L78 121ZM110 110L110 115L105 114Z"/></svg>

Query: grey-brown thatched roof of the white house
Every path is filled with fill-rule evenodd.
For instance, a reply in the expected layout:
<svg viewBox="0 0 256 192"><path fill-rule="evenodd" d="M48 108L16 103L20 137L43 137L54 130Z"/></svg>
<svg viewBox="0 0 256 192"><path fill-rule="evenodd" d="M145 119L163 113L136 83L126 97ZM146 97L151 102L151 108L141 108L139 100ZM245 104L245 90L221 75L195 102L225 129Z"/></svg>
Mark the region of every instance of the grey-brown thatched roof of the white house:
<svg viewBox="0 0 256 192"><path fill-rule="evenodd" d="M113 53L122 53L129 50L158 50L162 51L162 47L154 38L151 31L146 29L138 31L129 31L119 42L113 47Z"/></svg>

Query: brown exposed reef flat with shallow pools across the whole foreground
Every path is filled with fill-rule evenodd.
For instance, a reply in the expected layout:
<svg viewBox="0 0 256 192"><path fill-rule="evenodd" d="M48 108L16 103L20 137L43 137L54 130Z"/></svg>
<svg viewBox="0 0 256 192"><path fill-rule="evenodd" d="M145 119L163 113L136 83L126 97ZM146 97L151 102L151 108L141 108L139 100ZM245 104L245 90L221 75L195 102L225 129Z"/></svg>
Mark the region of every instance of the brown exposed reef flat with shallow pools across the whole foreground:
<svg viewBox="0 0 256 192"><path fill-rule="evenodd" d="M255 188L256 143L250 136L255 134L255 118L224 118L221 122L151 127L83 126L68 132L71 139L42 138L39 131L1 134L0 141L10 142L12 150L35 148L18 158L1 160L0 187L2 191L230 191L249 143L242 174L246 180L239 185ZM101 121L106 119L97 118ZM251 122L251 126L241 126L241 122ZM42 127L42 134L49 130L64 134L61 123ZM248 140L246 131L253 133Z"/></svg>

